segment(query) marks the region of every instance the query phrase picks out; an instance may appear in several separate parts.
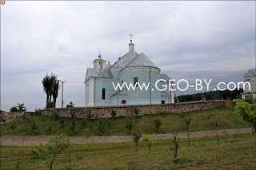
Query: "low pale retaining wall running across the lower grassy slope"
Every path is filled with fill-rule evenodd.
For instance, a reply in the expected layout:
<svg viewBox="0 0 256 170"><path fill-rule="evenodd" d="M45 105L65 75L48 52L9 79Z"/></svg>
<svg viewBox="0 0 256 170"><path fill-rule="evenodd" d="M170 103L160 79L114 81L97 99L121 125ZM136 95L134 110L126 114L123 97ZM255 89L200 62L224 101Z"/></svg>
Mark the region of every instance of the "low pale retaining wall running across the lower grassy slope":
<svg viewBox="0 0 256 170"><path fill-rule="evenodd" d="M212 131L191 132L190 137L206 137L232 135L238 133L252 132L252 128L234 128ZM173 136L178 138L187 138L186 132L179 132L176 134L156 134L152 135L153 140L168 140ZM39 144L47 144L50 138L54 136L0 136L0 145L2 146L34 146ZM98 143L117 143L133 141L132 136L64 136L69 138L72 144L98 144ZM140 139L142 140L142 139Z"/></svg>

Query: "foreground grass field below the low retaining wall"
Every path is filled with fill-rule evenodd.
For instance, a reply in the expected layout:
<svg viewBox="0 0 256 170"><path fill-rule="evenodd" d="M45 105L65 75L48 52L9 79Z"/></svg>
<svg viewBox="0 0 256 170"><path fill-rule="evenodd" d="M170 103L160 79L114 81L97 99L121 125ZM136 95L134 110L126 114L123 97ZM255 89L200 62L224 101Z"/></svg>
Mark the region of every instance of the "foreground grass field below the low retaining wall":
<svg viewBox="0 0 256 170"><path fill-rule="evenodd" d="M174 160L172 140L154 140L151 154L143 142L135 151L133 142L114 144L74 144L57 157L54 169L255 169L255 138L250 133L179 139ZM42 160L30 159L31 147L1 147L1 169L47 169ZM69 156L71 166L69 164ZM80 157L81 155L81 157Z"/></svg>

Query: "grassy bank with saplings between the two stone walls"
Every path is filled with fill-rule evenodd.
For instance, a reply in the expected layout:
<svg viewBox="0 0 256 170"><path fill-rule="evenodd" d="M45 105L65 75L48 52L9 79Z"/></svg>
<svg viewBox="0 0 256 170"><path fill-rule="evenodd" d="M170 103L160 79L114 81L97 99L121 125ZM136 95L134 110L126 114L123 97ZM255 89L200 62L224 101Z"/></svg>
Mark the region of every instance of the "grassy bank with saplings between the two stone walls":
<svg viewBox="0 0 256 170"><path fill-rule="evenodd" d="M246 124L242 121L233 107L207 109L186 113L185 118L191 118L190 131L205 131L205 130L219 130L227 128L246 128ZM154 120L158 118L162 125L157 131L154 127ZM64 125L60 124L64 121ZM17 119L1 124L2 136L30 136L30 135L55 135L66 134L67 136L98 136L97 124L99 120L88 121L86 127L82 127L82 119L75 119L74 132L71 131L72 118L54 118L45 116L29 117L29 121ZM126 117L110 118L110 125L104 128L102 135L131 135L135 131L146 132L150 134L157 133L172 133L172 132L186 132L186 124L177 114L157 114L145 115L135 118L135 125L132 130L126 129ZM217 122L217 124L216 124ZM33 132L31 125L36 125L38 128ZM12 125L16 128L11 129ZM49 127L51 130L49 131Z"/></svg>

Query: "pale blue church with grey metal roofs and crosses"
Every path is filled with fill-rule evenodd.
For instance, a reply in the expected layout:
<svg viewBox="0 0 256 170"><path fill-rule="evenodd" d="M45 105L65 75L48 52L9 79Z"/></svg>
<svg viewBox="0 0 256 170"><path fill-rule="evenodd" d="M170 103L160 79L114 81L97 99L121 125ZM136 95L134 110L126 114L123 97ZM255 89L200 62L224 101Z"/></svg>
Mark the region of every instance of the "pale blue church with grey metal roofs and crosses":
<svg viewBox="0 0 256 170"><path fill-rule="evenodd" d="M174 103L174 92L166 88L165 91L154 89L155 82L159 79L166 80L161 85L169 85L170 77L162 74L161 69L154 65L144 53L137 53L134 50L130 34L129 51L113 65L110 61L106 63L101 54L93 62L94 68L88 68L85 79L85 105L86 106L110 106L110 105L156 105ZM150 82L150 89L134 90L124 88L114 89L118 83L124 82L142 83Z"/></svg>

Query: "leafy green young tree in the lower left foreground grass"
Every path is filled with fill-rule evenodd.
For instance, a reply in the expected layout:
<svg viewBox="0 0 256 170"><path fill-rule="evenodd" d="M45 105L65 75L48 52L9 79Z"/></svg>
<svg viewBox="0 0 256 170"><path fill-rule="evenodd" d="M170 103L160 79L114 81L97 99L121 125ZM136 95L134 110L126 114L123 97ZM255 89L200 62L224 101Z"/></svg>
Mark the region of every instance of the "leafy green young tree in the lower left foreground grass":
<svg viewBox="0 0 256 170"><path fill-rule="evenodd" d="M54 160L56 160L58 154L60 154L65 148L70 146L70 140L64 139L63 135L54 136L50 139L49 143L45 147L35 146L31 149L31 158L33 160L45 160L47 167L50 170L53 169Z"/></svg>

